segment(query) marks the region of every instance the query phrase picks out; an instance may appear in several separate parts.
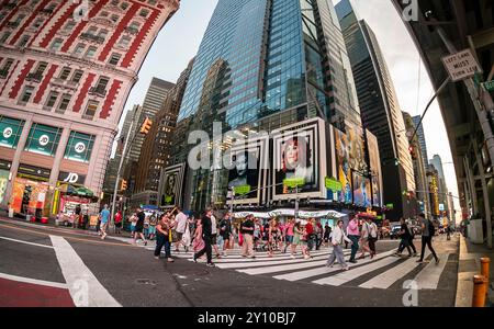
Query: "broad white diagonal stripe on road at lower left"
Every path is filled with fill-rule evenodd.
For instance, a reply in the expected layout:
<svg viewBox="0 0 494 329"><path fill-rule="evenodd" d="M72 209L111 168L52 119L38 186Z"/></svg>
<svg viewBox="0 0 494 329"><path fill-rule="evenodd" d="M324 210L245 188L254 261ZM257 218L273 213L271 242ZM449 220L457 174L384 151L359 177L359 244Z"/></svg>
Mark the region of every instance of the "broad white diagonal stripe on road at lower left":
<svg viewBox="0 0 494 329"><path fill-rule="evenodd" d="M63 237L49 236L49 238L76 306L122 306L110 295ZM85 292L82 287L87 288L87 291Z"/></svg>

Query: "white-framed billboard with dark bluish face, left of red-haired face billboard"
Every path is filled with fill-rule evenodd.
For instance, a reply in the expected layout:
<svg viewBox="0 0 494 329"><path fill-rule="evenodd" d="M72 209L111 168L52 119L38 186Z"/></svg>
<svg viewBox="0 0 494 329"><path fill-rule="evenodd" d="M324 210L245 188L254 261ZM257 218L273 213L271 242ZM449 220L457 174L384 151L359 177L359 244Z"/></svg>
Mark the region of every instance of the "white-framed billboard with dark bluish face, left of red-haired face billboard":
<svg viewBox="0 0 494 329"><path fill-rule="evenodd" d="M234 204L258 204L266 194L268 139L250 139L226 151L228 190ZM229 201L231 202L231 201Z"/></svg>

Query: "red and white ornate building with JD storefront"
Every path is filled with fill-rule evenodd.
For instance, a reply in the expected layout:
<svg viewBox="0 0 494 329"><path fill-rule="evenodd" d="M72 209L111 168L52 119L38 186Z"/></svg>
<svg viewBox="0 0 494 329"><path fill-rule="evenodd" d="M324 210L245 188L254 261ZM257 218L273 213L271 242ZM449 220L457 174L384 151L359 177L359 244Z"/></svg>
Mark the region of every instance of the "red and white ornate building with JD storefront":
<svg viewBox="0 0 494 329"><path fill-rule="evenodd" d="M64 181L101 193L128 93L179 2L0 0L3 208L46 216Z"/></svg>

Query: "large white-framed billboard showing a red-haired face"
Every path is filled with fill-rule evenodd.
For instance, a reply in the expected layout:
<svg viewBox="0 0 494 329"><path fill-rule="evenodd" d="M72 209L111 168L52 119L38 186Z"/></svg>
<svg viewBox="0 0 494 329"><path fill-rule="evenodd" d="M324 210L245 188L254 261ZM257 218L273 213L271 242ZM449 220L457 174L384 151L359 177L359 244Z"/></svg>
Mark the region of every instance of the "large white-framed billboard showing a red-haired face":
<svg viewBox="0 0 494 329"><path fill-rule="evenodd" d="M295 193L325 197L325 139L324 122L318 118L273 132L274 200Z"/></svg>

